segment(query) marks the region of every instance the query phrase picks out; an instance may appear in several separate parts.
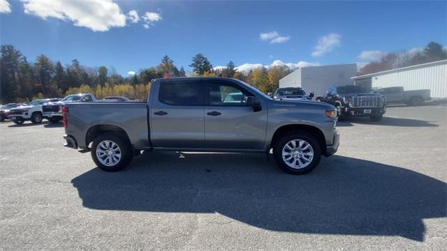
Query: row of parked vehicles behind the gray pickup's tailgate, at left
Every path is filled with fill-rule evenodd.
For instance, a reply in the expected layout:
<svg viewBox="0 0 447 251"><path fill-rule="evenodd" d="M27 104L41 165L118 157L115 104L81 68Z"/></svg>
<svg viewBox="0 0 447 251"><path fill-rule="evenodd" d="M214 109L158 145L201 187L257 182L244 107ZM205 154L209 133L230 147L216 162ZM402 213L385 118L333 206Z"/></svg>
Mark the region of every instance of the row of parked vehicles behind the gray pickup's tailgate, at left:
<svg viewBox="0 0 447 251"><path fill-rule="evenodd" d="M126 101L129 98L110 96L103 101ZM47 119L50 123L59 123L62 118L62 107L70 102L92 102L96 98L91 93L79 93L68 95L65 98L45 98L33 100L28 103L10 103L0 107L0 119L10 119L16 124L22 124L24 121L32 123L41 123Z"/></svg>

